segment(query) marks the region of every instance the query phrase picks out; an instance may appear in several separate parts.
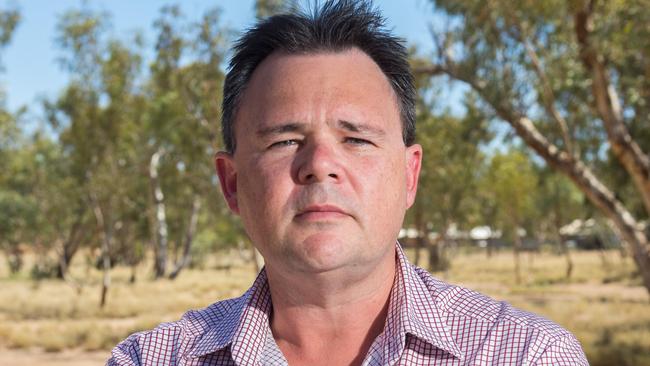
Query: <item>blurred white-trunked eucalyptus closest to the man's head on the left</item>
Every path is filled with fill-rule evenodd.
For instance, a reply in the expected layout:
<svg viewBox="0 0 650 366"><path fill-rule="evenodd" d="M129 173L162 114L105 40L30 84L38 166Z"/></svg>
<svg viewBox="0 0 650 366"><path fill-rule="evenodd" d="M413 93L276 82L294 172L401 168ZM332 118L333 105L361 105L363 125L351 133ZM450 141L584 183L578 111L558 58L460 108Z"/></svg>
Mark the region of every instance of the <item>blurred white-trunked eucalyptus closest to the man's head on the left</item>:
<svg viewBox="0 0 650 366"><path fill-rule="evenodd" d="M167 272L175 243L174 278L190 262L205 199L215 196L212 157L217 147L228 31L220 11L187 22L178 6L161 9L155 21L156 56L145 87L146 153L151 187L150 221L155 277Z"/></svg>

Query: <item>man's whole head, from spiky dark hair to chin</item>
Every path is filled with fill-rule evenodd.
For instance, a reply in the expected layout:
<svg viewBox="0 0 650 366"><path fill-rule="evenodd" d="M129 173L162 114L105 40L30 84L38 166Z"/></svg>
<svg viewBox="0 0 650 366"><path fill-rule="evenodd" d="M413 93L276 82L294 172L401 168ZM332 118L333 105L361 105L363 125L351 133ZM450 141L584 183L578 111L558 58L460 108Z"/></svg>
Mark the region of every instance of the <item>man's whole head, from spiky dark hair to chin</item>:
<svg viewBox="0 0 650 366"><path fill-rule="evenodd" d="M369 9L344 1L313 17L272 17L238 43L224 87L224 103L236 105L224 111L226 143L232 135L237 146L217 155L217 171L269 273L361 276L394 265L421 148L405 121L413 108L406 54ZM307 42L309 34L324 45Z"/></svg>

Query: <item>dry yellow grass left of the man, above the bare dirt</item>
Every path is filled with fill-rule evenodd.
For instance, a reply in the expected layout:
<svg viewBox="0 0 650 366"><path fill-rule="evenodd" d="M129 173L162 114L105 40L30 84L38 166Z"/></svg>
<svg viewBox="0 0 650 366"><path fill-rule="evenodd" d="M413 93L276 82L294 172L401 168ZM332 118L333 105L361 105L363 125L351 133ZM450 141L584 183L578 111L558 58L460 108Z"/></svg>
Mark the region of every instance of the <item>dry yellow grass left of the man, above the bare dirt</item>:
<svg viewBox="0 0 650 366"><path fill-rule="evenodd" d="M110 350L132 332L176 320L185 311L215 300L241 295L255 273L252 266L233 262L230 268L213 263L213 269L188 270L176 281L152 281L150 267L142 266L138 268L139 280L133 284L129 283L130 270L116 268L103 309L98 306L99 271L75 264L71 277L83 284L78 291L69 283L32 281L23 273L8 278L2 262L0 348Z"/></svg>

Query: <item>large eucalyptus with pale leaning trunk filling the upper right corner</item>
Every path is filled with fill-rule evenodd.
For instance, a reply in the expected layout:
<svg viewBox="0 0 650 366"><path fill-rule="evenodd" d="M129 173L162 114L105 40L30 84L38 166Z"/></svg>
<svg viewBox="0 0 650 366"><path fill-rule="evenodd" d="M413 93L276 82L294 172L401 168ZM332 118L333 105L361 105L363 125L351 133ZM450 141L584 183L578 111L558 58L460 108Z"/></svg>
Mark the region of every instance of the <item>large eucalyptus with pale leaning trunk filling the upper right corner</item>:
<svg viewBox="0 0 650 366"><path fill-rule="evenodd" d="M434 65L418 71L468 85L571 179L616 226L650 291L647 1L433 3L447 26L434 32ZM607 179L611 170L623 178Z"/></svg>

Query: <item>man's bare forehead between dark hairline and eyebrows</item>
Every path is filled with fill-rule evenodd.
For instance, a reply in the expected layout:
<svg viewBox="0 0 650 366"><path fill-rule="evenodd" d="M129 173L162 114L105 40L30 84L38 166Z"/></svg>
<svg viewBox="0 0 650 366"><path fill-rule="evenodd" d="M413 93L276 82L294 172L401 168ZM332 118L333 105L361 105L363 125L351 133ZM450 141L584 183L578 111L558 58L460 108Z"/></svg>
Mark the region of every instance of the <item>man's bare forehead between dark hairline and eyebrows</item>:
<svg viewBox="0 0 650 366"><path fill-rule="evenodd" d="M273 54L253 73L239 112L248 118L254 116L258 122L304 121L313 117L300 115L307 113L306 109L309 113L323 112L314 108L345 111L347 115L337 119L356 123L378 116L399 118L397 97L388 79L358 49Z"/></svg>

